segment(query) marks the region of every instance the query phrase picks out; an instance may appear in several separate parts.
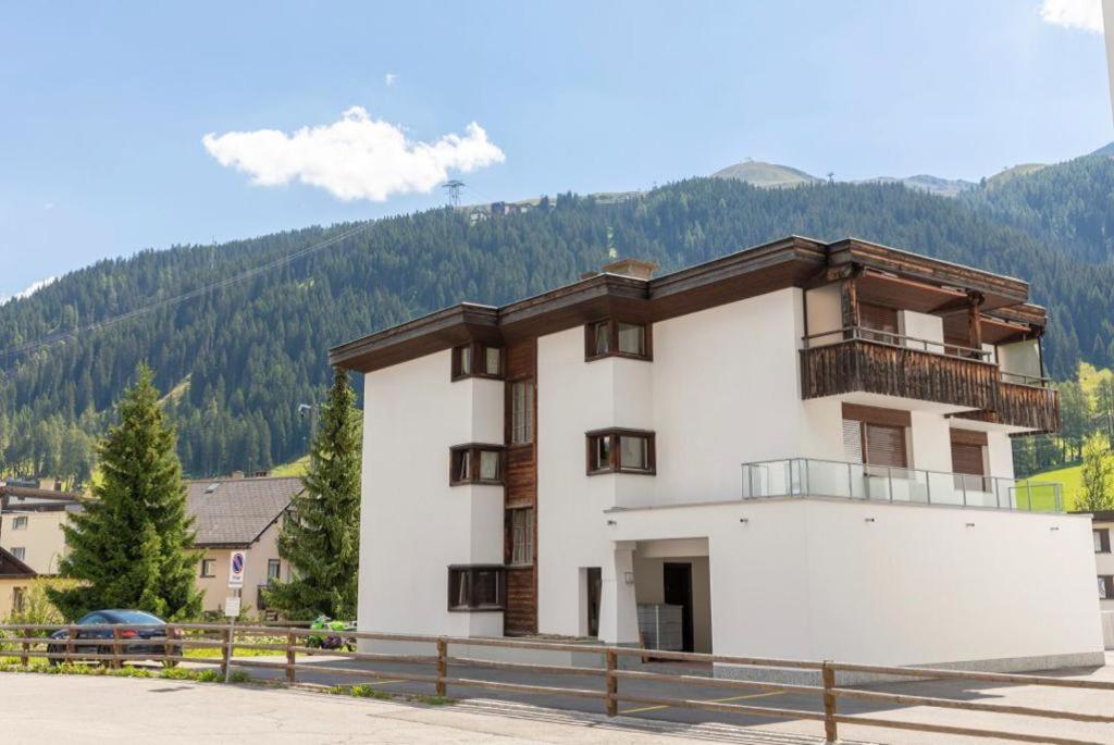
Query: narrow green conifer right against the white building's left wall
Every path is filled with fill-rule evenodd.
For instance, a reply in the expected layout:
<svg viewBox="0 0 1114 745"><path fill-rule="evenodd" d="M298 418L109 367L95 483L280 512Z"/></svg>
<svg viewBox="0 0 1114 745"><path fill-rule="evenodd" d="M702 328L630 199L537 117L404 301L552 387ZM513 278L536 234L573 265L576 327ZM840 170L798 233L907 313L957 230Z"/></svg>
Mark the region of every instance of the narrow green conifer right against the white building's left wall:
<svg viewBox="0 0 1114 745"><path fill-rule="evenodd" d="M360 563L360 415L348 373L336 370L310 448L305 489L291 502L278 536L290 582L265 590L290 618L355 616Z"/></svg>

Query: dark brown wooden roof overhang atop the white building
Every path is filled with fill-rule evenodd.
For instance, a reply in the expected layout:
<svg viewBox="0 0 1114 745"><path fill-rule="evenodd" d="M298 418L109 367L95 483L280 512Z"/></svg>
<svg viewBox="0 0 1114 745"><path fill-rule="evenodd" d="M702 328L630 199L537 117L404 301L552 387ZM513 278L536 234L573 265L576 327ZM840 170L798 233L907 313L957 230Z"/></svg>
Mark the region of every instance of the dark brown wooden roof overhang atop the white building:
<svg viewBox="0 0 1114 745"><path fill-rule="evenodd" d="M962 317L968 293L983 295L984 312L994 310L996 316L998 308L1015 311L1028 297L1028 285L1012 277L853 238L824 244L789 236L654 280L603 273L498 308L461 303L336 346L329 362L372 372L471 341L498 346L603 317L653 323L785 287L814 286L856 266L862 267L863 300L945 315L945 323L952 312ZM1003 329L1013 333L1019 326Z"/></svg>

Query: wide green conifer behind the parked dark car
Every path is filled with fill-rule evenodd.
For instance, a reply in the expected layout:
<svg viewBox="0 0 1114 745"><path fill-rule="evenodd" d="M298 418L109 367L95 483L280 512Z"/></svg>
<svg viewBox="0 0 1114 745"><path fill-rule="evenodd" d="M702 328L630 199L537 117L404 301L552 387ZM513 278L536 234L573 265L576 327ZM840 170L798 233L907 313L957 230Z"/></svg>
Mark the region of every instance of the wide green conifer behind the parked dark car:
<svg viewBox="0 0 1114 745"><path fill-rule="evenodd" d="M70 553L59 574L79 584L48 594L67 618L97 608L138 608L173 620L201 611L199 555L175 431L153 378L145 364L136 369L118 405L119 424L97 447L101 479L94 499L62 528Z"/></svg>

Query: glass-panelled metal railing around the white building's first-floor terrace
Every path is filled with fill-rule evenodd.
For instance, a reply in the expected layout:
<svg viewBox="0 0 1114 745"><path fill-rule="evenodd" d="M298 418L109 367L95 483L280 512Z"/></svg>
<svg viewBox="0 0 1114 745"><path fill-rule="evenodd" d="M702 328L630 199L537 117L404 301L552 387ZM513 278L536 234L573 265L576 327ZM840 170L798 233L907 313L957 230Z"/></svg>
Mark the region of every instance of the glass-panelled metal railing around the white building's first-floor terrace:
<svg viewBox="0 0 1114 745"><path fill-rule="evenodd" d="M946 507L1063 512L1061 484L814 458L743 463L743 499L834 497Z"/></svg>

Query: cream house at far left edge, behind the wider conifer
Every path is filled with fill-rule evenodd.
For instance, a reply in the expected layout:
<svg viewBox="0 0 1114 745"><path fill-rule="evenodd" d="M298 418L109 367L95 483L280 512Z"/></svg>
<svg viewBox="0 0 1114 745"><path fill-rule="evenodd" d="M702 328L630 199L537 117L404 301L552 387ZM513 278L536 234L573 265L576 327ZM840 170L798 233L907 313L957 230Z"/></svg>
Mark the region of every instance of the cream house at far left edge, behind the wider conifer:
<svg viewBox="0 0 1114 745"><path fill-rule="evenodd" d="M57 575L67 553L62 526L80 509L77 494L0 484L0 548L39 575Z"/></svg>

